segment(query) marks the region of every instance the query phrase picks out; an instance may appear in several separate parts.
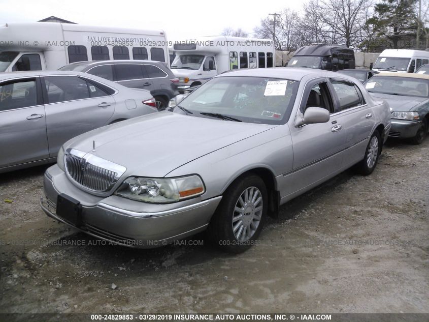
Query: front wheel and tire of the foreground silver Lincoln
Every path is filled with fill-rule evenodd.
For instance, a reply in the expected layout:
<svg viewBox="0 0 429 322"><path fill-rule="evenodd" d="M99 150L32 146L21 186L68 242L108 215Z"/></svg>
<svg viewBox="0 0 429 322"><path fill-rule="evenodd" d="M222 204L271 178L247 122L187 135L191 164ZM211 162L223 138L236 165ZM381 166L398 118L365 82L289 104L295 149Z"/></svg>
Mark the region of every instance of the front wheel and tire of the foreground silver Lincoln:
<svg viewBox="0 0 429 322"><path fill-rule="evenodd" d="M223 194L209 227L209 237L221 250L241 253L255 244L268 211L265 183L251 174Z"/></svg>

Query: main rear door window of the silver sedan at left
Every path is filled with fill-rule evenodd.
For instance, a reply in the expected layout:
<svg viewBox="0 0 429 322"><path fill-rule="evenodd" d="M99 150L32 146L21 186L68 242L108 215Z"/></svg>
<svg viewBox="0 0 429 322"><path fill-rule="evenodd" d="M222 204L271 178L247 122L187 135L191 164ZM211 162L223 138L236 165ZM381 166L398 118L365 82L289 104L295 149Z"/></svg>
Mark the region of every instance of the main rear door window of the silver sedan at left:
<svg viewBox="0 0 429 322"><path fill-rule="evenodd" d="M87 82L77 76L46 76L48 104L89 98Z"/></svg>

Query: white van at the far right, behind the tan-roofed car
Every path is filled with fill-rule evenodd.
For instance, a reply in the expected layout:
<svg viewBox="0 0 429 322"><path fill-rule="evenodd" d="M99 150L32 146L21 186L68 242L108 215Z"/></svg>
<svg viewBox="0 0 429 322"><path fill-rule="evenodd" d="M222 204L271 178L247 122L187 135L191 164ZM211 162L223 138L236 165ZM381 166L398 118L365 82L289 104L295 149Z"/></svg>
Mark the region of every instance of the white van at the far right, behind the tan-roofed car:
<svg viewBox="0 0 429 322"><path fill-rule="evenodd" d="M429 62L429 51L413 49L385 49L378 56L373 70L378 72L414 73Z"/></svg>

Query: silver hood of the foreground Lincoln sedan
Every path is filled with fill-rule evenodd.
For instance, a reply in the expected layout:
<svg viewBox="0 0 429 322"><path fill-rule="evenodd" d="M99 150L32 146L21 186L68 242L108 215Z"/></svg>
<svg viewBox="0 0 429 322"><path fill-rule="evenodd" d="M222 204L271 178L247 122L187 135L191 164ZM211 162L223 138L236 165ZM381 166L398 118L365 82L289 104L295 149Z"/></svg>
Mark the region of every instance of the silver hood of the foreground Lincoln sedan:
<svg viewBox="0 0 429 322"><path fill-rule="evenodd" d="M126 175L159 178L192 160L273 127L276 125L163 111L85 133L67 142L64 148L120 164L127 168Z"/></svg>

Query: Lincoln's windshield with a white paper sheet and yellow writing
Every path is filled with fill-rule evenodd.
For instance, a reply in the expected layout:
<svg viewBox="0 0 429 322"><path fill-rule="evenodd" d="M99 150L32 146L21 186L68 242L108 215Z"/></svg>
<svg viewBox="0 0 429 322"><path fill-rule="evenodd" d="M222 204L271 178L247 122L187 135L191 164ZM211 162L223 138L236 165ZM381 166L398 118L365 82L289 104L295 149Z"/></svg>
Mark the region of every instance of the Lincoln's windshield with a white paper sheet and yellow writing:
<svg viewBox="0 0 429 322"><path fill-rule="evenodd" d="M298 85L298 81L277 78L213 78L189 94L174 112L224 120L233 118L247 123L282 124L289 117Z"/></svg>

